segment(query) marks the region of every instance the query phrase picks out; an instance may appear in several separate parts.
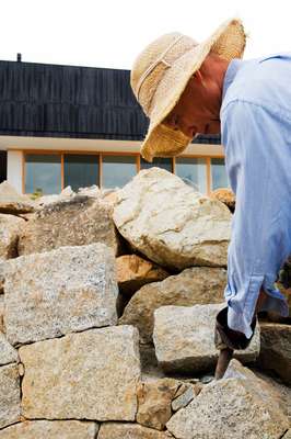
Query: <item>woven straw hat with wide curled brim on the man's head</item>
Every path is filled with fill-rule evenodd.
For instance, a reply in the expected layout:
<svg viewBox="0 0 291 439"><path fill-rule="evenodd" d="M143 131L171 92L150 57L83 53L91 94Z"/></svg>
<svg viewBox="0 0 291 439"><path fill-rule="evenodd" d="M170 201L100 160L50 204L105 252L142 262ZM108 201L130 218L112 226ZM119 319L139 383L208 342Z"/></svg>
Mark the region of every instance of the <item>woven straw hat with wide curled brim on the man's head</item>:
<svg viewBox="0 0 291 439"><path fill-rule="evenodd" d="M245 48L245 32L237 19L229 20L203 43L191 37L171 33L148 45L136 59L130 83L133 93L150 119L141 155L152 161L153 157L172 157L181 154L191 138L163 125L173 110L190 77L197 71L209 53L226 60L241 58Z"/></svg>

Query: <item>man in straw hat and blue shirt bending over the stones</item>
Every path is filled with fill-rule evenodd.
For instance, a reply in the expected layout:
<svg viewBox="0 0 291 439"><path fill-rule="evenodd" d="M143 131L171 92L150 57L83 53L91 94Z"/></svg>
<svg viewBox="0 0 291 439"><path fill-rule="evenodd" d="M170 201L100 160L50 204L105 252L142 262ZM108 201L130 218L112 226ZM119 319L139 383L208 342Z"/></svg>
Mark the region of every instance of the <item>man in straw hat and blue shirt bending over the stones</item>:
<svg viewBox="0 0 291 439"><path fill-rule="evenodd" d="M257 311L289 313L273 282L291 254L291 54L242 61L244 47L242 23L230 20L201 44L163 35L131 71L150 117L141 148L147 160L176 156L198 133L221 131L236 207L228 308L218 328L232 349L248 345Z"/></svg>

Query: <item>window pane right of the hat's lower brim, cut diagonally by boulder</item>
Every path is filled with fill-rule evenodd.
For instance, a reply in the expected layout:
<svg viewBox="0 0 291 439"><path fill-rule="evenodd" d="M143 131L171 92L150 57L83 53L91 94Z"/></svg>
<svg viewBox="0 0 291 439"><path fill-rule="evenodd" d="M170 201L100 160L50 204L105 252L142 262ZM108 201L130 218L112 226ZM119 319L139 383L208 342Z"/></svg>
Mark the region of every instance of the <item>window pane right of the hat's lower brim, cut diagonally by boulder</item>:
<svg viewBox="0 0 291 439"><path fill-rule="evenodd" d="M185 183L193 185L201 193L207 192L206 160L203 158L177 157L175 170Z"/></svg>

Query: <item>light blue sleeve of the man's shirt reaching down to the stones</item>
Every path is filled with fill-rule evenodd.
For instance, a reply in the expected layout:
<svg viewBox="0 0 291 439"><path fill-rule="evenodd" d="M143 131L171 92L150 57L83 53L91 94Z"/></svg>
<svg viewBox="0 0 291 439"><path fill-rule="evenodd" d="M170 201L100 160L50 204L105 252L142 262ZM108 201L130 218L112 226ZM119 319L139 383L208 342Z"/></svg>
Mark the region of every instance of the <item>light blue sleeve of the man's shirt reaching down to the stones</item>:
<svg viewBox="0 0 291 439"><path fill-rule="evenodd" d="M224 296L230 328L247 338L260 288L267 293L260 311L289 314L275 286L291 254L291 146L283 134L291 132L288 124L242 101L229 103L221 114L225 167L236 195Z"/></svg>

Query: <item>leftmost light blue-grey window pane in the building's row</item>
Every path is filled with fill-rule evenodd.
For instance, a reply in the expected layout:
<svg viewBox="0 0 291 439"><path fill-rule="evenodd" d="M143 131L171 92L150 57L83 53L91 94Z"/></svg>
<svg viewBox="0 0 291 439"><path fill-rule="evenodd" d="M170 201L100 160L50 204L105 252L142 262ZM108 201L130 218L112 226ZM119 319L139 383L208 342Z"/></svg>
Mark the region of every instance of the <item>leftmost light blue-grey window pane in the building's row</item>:
<svg viewBox="0 0 291 439"><path fill-rule="evenodd" d="M59 193L61 191L60 169L60 155L25 155L25 192Z"/></svg>

